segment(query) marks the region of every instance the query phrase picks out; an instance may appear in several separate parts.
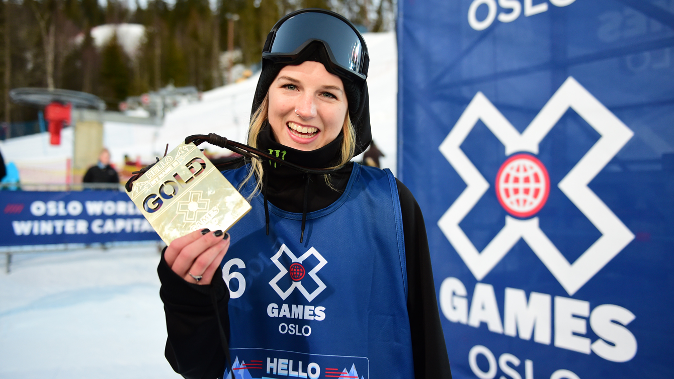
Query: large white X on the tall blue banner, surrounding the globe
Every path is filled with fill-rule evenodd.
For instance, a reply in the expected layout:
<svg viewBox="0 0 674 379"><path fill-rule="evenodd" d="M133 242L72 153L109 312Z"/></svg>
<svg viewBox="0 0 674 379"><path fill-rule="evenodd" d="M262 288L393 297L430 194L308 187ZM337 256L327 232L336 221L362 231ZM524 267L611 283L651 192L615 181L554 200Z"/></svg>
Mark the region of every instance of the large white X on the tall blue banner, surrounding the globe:
<svg viewBox="0 0 674 379"><path fill-rule="evenodd" d="M520 220L505 216L503 229L482 252L478 252L459 223L487 192L489 183L468 160L460 145L477 121L482 120L505 145L507 156L517 151L537 154L539 143L569 108L575 110L601 137L558 186L602 236L570 264L539 228L538 217ZM522 134L478 92L439 147L467 186L440 217L437 225L477 280L482 280L523 238L568 294L573 295L634 239L634 234L587 186L632 135L634 133L630 128L573 77L564 81Z"/></svg>

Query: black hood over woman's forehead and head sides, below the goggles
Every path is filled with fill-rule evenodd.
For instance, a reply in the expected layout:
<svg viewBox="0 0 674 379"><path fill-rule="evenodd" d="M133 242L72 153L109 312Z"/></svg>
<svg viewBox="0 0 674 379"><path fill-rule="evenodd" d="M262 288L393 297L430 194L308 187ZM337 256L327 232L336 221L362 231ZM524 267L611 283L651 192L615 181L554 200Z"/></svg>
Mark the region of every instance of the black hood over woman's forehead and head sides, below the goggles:
<svg viewBox="0 0 674 379"><path fill-rule="evenodd" d="M272 63L272 61L262 59L262 72L260 73L259 79L257 81L257 88L255 88L255 97L253 98L251 117L257 108L259 108L260 104L262 104L262 101L264 100L270 85L272 85L272 82L274 79L276 79L276 76L278 76L278 73L281 71L281 69L286 65L299 65L305 61L323 63L328 72L333 73L342 79L342 83L344 84L344 92L346 92L346 100L348 100L348 115L356 131L356 148L354 151L354 156L357 156L358 154L365 151L372 141L367 81L355 81L348 77L344 77L343 75L340 75L336 71L330 69L330 65L326 65L326 62L328 61L326 49L324 48L323 44L319 42L309 44L309 46L307 46L301 55L294 61ZM338 139L341 139L341 137L338 137ZM259 139L258 142L260 142Z"/></svg>

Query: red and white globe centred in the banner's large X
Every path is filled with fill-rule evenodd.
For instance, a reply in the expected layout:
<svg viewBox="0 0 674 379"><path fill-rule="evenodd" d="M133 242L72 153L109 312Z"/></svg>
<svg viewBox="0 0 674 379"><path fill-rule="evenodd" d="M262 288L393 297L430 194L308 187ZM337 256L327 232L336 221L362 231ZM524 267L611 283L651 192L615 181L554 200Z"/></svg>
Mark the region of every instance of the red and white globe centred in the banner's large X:
<svg viewBox="0 0 674 379"><path fill-rule="evenodd" d="M543 163L528 154L516 154L496 174L496 197L511 215L530 217L545 205L550 178Z"/></svg>

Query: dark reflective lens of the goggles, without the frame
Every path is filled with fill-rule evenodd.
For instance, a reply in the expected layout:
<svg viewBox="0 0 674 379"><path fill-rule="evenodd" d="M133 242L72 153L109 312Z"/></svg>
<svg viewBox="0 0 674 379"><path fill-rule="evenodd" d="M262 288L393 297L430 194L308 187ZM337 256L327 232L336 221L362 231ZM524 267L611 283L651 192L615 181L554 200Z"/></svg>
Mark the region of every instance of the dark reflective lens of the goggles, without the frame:
<svg viewBox="0 0 674 379"><path fill-rule="evenodd" d="M333 63L362 75L361 39L342 20L326 13L299 13L286 20L276 30L269 53L291 54L308 40L326 42L332 50Z"/></svg>

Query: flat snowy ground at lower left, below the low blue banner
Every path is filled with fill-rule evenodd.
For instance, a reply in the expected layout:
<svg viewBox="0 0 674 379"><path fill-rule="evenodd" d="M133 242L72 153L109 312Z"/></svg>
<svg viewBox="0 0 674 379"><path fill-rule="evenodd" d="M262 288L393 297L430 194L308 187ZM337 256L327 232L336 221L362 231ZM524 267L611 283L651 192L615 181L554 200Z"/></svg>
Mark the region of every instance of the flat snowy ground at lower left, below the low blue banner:
<svg viewBox="0 0 674 379"><path fill-rule="evenodd" d="M155 245L14 255L0 378L180 378L164 359L158 261Z"/></svg>

